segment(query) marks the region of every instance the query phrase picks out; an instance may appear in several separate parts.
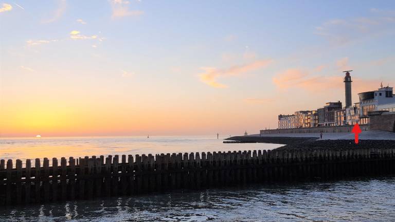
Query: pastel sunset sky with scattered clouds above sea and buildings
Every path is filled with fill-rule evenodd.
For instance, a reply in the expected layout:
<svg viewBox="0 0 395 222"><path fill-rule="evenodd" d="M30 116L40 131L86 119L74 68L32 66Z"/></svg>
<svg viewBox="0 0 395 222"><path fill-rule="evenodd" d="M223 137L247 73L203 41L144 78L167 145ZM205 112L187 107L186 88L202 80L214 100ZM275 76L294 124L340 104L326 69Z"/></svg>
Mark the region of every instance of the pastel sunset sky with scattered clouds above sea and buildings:
<svg viewBox="0 0 395 222"><path fill-rule="evenodd" d="M2 1L0 137L241 135L394 86L394 1Z"/></svg>

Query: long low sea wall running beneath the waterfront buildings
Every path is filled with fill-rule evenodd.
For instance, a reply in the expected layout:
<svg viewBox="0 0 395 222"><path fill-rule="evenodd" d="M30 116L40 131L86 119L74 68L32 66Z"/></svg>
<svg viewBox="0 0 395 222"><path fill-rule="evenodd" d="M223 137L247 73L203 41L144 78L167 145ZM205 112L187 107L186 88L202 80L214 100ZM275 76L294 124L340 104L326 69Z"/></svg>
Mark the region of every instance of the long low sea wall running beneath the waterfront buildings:
<svg viewBox="0 0 395 222"><path fill-rule="evenodd" d="M292 129L276 129L276 130L261 130L260 135L263 134L280 134L280 133L347 133L352 131L352 125L345 126L322 126L310 128L292 128ZM368 124L360 125L362 131L368 131Z"/></svg>

